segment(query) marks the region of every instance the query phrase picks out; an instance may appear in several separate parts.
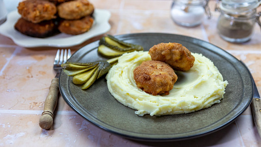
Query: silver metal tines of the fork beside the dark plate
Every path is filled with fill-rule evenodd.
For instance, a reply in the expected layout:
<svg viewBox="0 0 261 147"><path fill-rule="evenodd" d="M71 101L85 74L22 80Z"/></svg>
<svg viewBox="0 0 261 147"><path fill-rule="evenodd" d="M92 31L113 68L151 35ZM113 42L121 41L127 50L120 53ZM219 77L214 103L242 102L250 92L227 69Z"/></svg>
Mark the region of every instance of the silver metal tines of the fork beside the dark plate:
<svg viewBox="0 0 261 147"><path fill-rule="evenodd" d="M71 57L70 49L58 49L53 64L61 65Z"/></svg>

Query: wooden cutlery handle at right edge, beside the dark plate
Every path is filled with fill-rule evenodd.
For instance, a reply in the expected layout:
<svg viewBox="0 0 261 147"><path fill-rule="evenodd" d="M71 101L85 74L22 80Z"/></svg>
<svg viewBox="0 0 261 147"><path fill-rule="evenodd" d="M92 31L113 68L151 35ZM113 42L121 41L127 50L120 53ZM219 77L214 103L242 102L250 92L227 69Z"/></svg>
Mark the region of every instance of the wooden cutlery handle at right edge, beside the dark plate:
<svg viewBox="0 0 261 147"><path fill-rule="evenodd" d="M258 133L261 136L261 99L253 98L252 101L252 113L255 120L255 125L258 129Z"/></svg>

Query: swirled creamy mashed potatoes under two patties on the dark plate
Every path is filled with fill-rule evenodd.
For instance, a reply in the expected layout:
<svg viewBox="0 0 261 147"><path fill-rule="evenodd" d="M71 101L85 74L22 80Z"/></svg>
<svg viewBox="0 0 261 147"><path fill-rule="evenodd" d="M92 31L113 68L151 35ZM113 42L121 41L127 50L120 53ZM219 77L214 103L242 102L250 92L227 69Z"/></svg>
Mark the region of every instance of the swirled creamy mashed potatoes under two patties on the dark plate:
<svg viewBox="0 0 261 147"><path fill-rule="evenodd" d="M198 53L192 55L194 66L186 72L175 71L178 80L169 95L153 96L137 88L133 79L134 68L151 60L150 55L147 51L125 53L106 76L109 91L120 103L137 110L139 116L190 113L220 103L228 82L223 81L210 59Z"/></svg>

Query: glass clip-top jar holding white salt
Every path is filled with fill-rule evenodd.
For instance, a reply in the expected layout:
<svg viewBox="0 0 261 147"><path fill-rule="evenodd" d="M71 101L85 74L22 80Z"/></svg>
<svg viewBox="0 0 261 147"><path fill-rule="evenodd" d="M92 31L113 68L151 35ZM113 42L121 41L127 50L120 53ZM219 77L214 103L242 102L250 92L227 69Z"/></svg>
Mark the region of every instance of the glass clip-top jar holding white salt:
<svg viewBox="0 0 261 147"><path fill-rule="evenodd" d="M201 24L205 12L210 18L208 0L173 0L170 11L176 24L187 27Z"/></svg>

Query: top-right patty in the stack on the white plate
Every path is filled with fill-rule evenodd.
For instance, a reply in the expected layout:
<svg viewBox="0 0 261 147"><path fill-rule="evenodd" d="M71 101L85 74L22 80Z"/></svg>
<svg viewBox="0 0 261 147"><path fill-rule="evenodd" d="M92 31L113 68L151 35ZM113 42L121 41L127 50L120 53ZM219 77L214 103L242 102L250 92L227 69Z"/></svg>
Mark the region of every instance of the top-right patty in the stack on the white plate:
<svg viewBox="0 0 261 147"><path fill-rule="evenodd" d="M57 6L58 15L64 19L80 19L93 13L94 6L88 0L66 1Z"/></svg>

